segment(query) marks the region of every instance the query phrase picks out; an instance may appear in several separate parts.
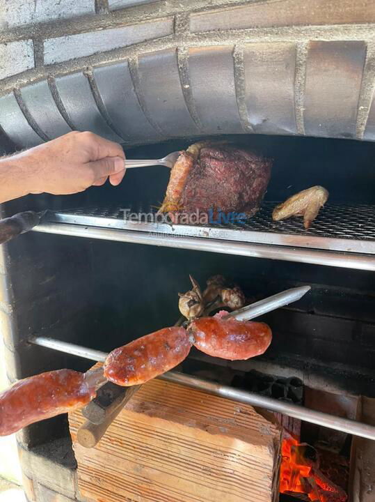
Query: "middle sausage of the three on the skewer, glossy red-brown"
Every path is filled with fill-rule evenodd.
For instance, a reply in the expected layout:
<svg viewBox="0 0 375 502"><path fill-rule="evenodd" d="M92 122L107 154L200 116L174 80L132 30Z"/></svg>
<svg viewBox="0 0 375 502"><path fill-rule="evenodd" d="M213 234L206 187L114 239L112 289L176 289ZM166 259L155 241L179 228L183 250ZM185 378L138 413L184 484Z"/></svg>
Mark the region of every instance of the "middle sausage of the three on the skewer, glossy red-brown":
<svg viewBox="0 0 375 502"><path fill-rule="evenodd" d="M120 386L145 383L181 363L190 349L184 328L163 328L109 353L104 377Z"/></svg>

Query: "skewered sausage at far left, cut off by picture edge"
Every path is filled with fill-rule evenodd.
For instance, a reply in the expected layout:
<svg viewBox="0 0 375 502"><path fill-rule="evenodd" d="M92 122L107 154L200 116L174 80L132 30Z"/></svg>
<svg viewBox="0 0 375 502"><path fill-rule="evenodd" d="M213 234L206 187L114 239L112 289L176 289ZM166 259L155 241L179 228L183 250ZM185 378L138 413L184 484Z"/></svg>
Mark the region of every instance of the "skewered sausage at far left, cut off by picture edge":
<svg viewBox="0 0 375 502"><path fill-rule="evenodd" d="M17 381L0 394L0 436L88 404L95 388L83 373L58 370Z"/></svg>

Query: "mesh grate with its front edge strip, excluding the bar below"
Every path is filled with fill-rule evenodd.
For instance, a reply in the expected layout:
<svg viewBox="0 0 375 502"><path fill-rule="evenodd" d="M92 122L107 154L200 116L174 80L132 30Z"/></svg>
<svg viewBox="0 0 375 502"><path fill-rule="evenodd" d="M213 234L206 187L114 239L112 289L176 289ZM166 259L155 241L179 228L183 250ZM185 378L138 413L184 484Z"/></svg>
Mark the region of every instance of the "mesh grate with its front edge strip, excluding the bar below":
<svg viewBox="0 0 375 502"><path fill-rule="evenodd" d="M277 202L264 202L258 213L242 222L212 222L208 225L172 225L157 216L152 204L124 204L115 208L79 208L50 213L49 222L111 227L161 234L220 238L230 241L288 245L293 247L375 254L375 206L328 204L312 227L303 228L302 218L272 220ZM124 210L129 211L124 213Z"/></svg>

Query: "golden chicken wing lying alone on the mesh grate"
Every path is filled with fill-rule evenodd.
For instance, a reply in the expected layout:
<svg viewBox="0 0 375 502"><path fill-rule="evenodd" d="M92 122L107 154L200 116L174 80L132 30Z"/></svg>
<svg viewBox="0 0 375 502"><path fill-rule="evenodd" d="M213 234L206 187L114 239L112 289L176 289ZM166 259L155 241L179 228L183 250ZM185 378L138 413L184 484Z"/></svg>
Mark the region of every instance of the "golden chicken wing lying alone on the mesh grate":
<svg viewBox="0 0 375 502"><path fill-rule="evenodd" d="M302 190L276 206L273 209L272 219L280 221L291 216L303 216L303 225L305 229L309 229L317 218L319 209L326 204L328 195L328 190L319 185Z"/></svg>

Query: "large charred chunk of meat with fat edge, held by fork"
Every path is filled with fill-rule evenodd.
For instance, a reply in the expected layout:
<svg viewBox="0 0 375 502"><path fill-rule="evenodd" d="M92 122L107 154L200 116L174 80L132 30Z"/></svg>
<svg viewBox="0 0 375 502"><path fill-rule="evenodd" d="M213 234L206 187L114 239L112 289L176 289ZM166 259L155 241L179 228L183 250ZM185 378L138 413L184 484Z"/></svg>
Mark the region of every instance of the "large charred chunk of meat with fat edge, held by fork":
<svg viewBox="0 0 375 502"><path fill-rule="evenodd" d="M258 210L271 175L271 160L228 144L189 146L170 172L160 212L245 213Z"/></svg>

